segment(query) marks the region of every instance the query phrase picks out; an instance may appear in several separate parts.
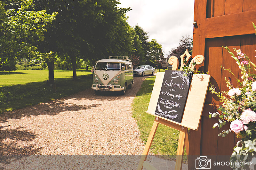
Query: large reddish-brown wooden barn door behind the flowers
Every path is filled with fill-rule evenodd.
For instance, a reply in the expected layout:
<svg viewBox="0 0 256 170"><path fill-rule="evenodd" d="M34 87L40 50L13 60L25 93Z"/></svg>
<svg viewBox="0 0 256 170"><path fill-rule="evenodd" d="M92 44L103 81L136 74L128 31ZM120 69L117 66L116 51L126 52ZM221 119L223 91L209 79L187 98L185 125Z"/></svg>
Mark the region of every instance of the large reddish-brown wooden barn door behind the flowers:
<svg viewBox="0 0 256 170"><path fill-rule="evenodd" d="M204 66L199 70L209 71L212 75L210 82L218 91L228 90L225 77L232 78L233 84L237 85L235 77L220 68L221 65L230 68L236 77L241 77L236 62L222 46L228 46L231 51L234 51L233 48L241 49L256 63L256 35L252 26L252 22L256 24L256 1L195 0L194 20L196 25L193 35L193 56L201 54L205 57ZM189 155L232 154L233 147L238 141L235 134L229 134L225 138L218 137L220 129L212 129L213 124L218 121L208 117L208 112L215 112L218 107L216 105L220 105L218 100L215 95L207 93L199 130L190 130ZM229 129L229 124L221 130L224 129ZM194 160L189 160L188 169L194 168Z"/></svg>

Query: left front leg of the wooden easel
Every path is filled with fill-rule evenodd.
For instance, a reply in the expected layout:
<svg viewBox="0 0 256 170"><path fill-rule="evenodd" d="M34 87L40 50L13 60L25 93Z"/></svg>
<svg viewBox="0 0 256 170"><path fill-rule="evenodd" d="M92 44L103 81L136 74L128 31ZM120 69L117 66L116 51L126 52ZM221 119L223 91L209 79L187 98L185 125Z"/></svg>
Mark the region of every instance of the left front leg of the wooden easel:
<svg viewBox="0 0 256 170"><path fill-rule="evenodd" d="M143 163L144 161L147 159L147 155L148 155L148 152L149 152L149 149L150 149L150 146L153 142L153 139L155 137L155 134L156 134L156 129L158 127L158 117L155 118L155 121L153 123L153 126L151 128L151 131L149 133L149 136L148 136L148 140L147 140L147 143L145 145L145 148L144 148L144 151L142 153L142 157L140 159L140 163L139 163L139 166L137 168L137 170L142 170L143 168Z"/></svg>

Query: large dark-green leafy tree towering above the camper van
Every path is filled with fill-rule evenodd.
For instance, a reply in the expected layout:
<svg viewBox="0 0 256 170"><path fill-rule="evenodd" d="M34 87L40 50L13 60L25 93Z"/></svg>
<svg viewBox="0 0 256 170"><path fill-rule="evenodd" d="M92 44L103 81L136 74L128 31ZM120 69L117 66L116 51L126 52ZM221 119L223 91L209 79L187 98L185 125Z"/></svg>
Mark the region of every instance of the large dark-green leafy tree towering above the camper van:
<svg viewBox="0 0 256 170"><path fill-rule="evenodd" d="M41 49L70 57L73 78L76 61L90 59L93 64L108 55L128 55L132 49L131 36L124 13L116 0L56 0L35 1L37 9L58 11L48 28ZM51 49L51 50L50 50Z"/></svg>

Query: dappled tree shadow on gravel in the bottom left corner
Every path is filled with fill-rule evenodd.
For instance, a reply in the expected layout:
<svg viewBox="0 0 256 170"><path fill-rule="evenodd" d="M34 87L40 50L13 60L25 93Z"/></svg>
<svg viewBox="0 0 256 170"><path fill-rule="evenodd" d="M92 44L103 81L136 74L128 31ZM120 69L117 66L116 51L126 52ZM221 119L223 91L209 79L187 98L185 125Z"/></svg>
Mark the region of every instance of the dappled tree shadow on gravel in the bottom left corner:
<svg viewBox="0 0 256 170"><path fill-rule="evenodd" d="M19 146L20 142L28 142L36 138L34 132L22 128L0 130L0 155L33 155L40 152L41 148L35 149L33 145ZM1 163L3 161L6 160L0 159Z"/></svg>

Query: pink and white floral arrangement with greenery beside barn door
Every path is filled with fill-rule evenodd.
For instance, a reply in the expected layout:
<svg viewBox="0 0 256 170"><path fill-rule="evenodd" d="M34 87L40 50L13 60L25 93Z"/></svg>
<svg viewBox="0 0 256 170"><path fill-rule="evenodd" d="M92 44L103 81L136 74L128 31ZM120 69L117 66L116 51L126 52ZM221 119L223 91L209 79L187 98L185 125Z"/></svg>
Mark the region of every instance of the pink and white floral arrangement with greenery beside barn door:
<svg viewBox="0 0 256 170"><path fill-rule="evenodd" d="M221 66L222 69L228 70L235 76L238 87L234 86L231 78L226 78L229 88L227 92L216 92L216 88L213 85L210 86L209 90L217 94L222 105L218 108L219 112L209 113L209 118L216 116L220 118L219 123L215 123L213 128L220 129L226 122L231 122L230 129L222 130L218 136L226 137L233 131L236 137L241 138L234 147L230 161L250 161L253 156L256 156L256 75L252 74L256 70L256 65L240 49L234 48L235 56L228 47L223 48L227 49L231 57L236 60L242 76L241 79L236 78L230 69ZM246 169L247 167L245 165L237 167L232 164L231 168Z"/></svg>

